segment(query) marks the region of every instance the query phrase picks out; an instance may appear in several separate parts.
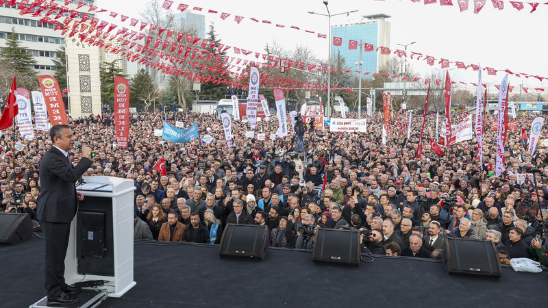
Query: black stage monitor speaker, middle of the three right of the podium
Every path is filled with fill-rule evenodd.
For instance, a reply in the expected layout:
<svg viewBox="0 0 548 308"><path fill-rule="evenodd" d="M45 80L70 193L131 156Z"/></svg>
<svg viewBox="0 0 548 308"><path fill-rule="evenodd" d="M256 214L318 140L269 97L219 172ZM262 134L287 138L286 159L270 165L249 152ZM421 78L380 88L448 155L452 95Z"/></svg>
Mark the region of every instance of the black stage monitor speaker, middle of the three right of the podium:
<svg viewBox="0 0 548 308"><path fill-rule="evenodd" d="M314 262L360 265L360 231L316 230L312 259Z"/></svg>

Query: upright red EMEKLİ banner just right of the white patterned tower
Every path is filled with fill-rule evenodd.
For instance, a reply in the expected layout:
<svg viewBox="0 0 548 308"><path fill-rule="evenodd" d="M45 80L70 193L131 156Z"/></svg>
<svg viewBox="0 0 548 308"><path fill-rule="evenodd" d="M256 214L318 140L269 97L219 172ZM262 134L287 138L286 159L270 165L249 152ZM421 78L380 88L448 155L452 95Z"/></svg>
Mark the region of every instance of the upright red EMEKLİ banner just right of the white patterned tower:
<svg viewBox="0 0 548 308"><path fill-rule="evenodd" d="M127 148L129 138L129 84L124 77L114 76L114 123L116 143Z"/></svg>

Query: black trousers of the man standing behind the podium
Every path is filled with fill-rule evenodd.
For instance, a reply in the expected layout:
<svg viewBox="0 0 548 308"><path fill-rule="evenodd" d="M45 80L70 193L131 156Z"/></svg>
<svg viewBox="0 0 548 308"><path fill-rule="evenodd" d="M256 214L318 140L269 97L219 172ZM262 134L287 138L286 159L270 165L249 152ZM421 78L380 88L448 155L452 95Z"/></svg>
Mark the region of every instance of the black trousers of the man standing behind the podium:
<svg viewBox="0 0 548 308"><path fill-rule="evenodd" d="M66 287L64 282L64 257L69 246L71 222L40 222L44 238L45 249L45 286L47 297L60 296Z"/></svg>

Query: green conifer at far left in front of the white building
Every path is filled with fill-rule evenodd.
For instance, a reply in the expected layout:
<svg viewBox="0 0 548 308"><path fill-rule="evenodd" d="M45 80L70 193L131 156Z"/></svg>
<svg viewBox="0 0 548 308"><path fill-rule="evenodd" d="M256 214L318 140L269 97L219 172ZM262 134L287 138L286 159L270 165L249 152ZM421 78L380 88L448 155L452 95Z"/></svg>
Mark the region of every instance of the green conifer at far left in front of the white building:
<svg viewBox="0 0 548 308"><path fill-rule="evenodd" d="M31 53L21 46L21 41L15 29L12 28L12 34L6 37L5 46L0 51L1 62L8 63L17 77L17 86L34 89L38 86L36 79L36 70L34 64L36 60ZM13 76L12 76L13 77ZM11 84L11 81L10 81Z"/></svg>

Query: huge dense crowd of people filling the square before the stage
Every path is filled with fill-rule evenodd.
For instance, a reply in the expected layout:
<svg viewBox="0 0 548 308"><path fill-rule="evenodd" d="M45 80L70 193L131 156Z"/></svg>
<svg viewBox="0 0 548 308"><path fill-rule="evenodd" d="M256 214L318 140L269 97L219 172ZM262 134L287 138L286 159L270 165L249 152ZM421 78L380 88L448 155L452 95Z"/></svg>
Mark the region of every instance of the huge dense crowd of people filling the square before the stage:
<svg viewBox="0 0 548 308"><path fill-rule="evenodd" d="M348 118L357 116L347 112ZM412 118L409 139L407 114L395 113L386 144L382 116L367 117L366 133L307 129L302 151L295 136L269 137L278 128L275 118L258 121L254 138L246 138L247 121L233 120L229 147L221 121L212 114L139 112L132 114L127 148L116 144L112 114L69 118L77 142L94 153L84 176L134 181L135 238L219 244L229 223L260 224L268 227L271 246L310 249L310 230L355 228L362 230L365 253L438 258L446 237L475 238L495 242L501 263L527 257L548 266L543 231L548 151L539 142L528 153L521 138L521 128L529 131L534 115L515 118L518 129L508 131L506 171L499 177L493 115L486 115L481 162L475 159L475 134L443 147L443 155L430 149L435 113L426 117L420 158L421 111ZM162 129L164 120L184 127L196 122L214 142L162 140L154 130ZM455 113L453 123L460 120L462 114ZM17 130L2 131L0 210L26 212L38 227L40 160L51 140L47 132L36 131L27 150L18 152L14 140L21 140ZM154 168L160 157L166 175ZM80 158L77 149L71 153L73 164ZM537 187L532 177L523 176L534 169L540 171L534 176Z"/></svg>

